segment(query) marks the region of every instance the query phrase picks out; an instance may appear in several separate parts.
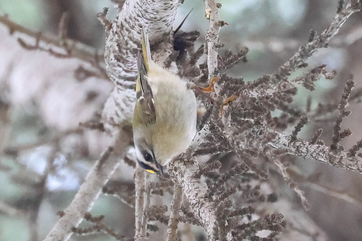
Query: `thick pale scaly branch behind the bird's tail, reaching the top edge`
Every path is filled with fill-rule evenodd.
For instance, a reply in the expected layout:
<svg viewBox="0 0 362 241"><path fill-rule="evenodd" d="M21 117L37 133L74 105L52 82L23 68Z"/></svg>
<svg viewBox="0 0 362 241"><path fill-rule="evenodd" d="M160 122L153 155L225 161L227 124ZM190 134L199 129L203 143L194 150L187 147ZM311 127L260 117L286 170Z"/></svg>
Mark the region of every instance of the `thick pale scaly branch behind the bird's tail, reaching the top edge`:
<svg viewBox="0 0 362 241"><path fill-rule="evenodd" d="M142 27L149 34L151 50L155 43L171 42L169 33L179 5L179 0L127 0L117 14L106 39L104 53L107 74L115 83L102 112L107 130L123 121L132 120L137 76L136 56L140 50ZM157 56L166 58L166 53L171 49L170 43L158 48L153 60L163 63Z"/></svg>

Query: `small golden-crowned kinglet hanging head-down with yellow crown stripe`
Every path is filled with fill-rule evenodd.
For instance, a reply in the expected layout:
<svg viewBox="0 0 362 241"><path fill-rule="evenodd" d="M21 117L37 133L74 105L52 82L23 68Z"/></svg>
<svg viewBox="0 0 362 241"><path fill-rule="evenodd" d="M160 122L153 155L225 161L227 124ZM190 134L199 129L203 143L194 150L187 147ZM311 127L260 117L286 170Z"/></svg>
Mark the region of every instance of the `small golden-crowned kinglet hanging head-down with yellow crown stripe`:
<svg viewBox="0 0 362 241"><path fill-rule="evenodd" d="M142 32L133 136L137 161L146 171L163 175L163 166L185 151L196 134L197 104L191 82L151 60L148 35Z"/></svg>

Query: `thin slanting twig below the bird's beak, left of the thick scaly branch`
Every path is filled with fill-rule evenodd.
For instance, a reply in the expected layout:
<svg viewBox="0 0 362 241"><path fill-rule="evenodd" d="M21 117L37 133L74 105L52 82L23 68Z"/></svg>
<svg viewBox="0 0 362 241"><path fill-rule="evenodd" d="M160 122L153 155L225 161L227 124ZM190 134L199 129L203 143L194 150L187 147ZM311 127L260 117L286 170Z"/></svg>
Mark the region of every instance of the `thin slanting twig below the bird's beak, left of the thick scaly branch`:
<svg viewBox="0 0 362 241"><path fill-rule="evenodd" d="M167 241L176 241L177 238L177 224L182 202L182 195L182 188L178 185L175 185L171 204L171 215L170 219L168 220Z"/></svg>

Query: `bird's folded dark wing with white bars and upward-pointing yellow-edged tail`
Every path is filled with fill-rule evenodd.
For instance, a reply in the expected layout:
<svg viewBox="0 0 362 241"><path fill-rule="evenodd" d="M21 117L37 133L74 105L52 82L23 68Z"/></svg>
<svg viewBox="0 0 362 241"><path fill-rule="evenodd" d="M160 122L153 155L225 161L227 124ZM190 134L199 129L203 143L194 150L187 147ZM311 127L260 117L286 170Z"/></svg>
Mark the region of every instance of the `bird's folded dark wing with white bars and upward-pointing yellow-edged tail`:
<svg viewBox="0 0 362 241"><path fill-rule="evenodd" d="M148 42L148 35L142 30L142 55L138 52L137 66L138 78L136 82L136 104L140 104L147 117L152 120L156 119L156 111L152 90L147 81L148 63L151 60L150 42Z"/></svg>

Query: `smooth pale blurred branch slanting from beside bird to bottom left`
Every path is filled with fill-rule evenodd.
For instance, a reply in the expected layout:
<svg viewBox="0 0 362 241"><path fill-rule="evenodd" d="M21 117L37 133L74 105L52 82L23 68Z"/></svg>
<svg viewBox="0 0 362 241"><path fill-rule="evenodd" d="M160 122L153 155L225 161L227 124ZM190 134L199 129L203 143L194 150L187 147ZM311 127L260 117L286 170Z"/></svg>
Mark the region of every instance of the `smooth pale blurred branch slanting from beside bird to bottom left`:
<svg viewBox="0 0 362 241"><path fill-rule="evenodd" d="M44 241L68 240L73 231L84 219L84 215L92 208L94 201L100 195L103 186L119 165L126 150L131 135L120 131L112 146L117 147L113 154L111 148L106 150L101 158L93 165L84 183L80 186L71 204L64 210L62 217L54 225Z"/></svg>

